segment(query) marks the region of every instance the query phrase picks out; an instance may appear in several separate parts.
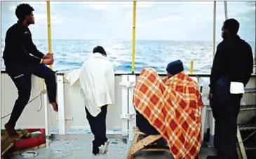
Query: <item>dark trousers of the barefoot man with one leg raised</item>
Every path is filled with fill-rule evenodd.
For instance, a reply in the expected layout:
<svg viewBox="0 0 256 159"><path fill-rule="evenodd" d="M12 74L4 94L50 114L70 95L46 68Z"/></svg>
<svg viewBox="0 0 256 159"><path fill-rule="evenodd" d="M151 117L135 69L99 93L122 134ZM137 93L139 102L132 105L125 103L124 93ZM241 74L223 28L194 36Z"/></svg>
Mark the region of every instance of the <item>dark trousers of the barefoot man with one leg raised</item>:
<svg viewBox="0 0 256 159"><path fill-rule="evenodd" d="M29 101L32 74L45 79L48 99L50 103L56 101L57 84L55 72L47 66L40 63L28 66L11 66L6 68L6 73L11 77L18 89L18 99L15 101L11 117L8 121L9 126L15 127L16 122Z"/></svg>

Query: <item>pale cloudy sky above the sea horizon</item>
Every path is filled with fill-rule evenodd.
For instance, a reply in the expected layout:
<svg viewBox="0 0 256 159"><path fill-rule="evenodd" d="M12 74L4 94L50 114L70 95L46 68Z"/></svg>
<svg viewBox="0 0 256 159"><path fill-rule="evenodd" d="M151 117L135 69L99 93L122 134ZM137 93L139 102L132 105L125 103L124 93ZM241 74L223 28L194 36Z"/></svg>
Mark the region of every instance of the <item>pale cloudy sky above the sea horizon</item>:
<svg viewBox="0 0 256 159"><path fill-rule="evenodd" d="M21 1L1 1L1 38L16 21ZM34 8L33 39L47 39L46 1ZM240 22L238 34L255 41L255 1L228 1L228 16ZM132 40L132 1L51 1L52 39ZM224 2L217 1L216 39L221 40ZM138 1L136 40L213 40L213 1Z"/></svg>

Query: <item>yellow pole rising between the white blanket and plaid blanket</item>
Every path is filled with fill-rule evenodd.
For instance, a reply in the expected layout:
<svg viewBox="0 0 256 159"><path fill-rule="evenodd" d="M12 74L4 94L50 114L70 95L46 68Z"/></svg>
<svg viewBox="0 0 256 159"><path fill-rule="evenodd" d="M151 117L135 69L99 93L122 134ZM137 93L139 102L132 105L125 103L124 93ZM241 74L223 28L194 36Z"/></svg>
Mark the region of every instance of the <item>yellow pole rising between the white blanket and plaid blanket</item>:
<svg viewBox="0 0 256 159"><path fill-rule="evenodd" d="M136 26L136 3L133 1L133 46L132 46L132 73L135 71L135 26Z"/></svg>

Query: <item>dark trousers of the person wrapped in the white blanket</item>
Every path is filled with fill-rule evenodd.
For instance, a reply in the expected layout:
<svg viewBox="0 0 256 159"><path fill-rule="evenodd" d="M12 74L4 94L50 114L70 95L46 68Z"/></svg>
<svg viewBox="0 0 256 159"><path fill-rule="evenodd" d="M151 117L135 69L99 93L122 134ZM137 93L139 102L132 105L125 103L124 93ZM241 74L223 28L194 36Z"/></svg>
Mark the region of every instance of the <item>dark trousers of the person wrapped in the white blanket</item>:
<svg viewBox="0 0 256 159"><path fill-rule="evenodd" d="M106 116L107 116L107 105L101 107L100 114L97 116L92 116L88 109L86 108L86 118L90 124L90 130L93 132L94 146L101 146L107 142L106 137Z"/></svg>

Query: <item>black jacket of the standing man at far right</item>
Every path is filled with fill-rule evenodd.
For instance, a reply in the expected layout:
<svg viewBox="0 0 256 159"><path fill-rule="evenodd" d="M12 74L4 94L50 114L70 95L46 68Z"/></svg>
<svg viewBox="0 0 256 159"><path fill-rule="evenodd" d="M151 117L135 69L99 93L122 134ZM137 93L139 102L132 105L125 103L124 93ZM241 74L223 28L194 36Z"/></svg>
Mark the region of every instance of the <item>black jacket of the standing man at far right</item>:
<svg viewBox="0 0 256 159"><path fill-rule="evenodd" d="M229 82L249 82L253 70L252 47L239 36L224 39L219 45L210 75L210 93L214 93L217 79L227 75Z"/></svg>

